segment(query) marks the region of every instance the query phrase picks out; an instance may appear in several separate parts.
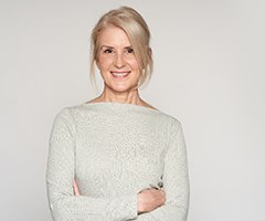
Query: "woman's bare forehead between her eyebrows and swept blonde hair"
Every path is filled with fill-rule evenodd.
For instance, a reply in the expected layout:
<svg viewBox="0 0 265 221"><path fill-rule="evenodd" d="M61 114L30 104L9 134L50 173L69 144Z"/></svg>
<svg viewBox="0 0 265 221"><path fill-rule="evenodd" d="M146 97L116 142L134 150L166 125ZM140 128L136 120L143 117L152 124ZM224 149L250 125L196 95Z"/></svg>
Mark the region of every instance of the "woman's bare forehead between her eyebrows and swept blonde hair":
<svg viewBox="0 0 265 221"><path fill-rule="evenodd" d="M115 25L108 25L99 32L98 44L114 48L131 45L126 32Z"/></svg>

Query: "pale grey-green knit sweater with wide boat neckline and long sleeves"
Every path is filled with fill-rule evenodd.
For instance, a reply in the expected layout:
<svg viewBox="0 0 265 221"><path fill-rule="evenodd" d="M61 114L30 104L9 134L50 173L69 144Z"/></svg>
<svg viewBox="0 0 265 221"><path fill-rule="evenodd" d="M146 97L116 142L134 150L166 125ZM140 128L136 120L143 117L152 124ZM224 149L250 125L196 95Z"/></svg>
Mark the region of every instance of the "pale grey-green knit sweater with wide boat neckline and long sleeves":
<svg viewBox="0 0 265 221"><path fill-rule="evenodd" d="M76 180L81 196L75 196ZM162 185L166 204L138 214L137 194ZM187 152L181 124L125 103L63 108L50 137L47 198L54 221L186 221Z"/></svg>

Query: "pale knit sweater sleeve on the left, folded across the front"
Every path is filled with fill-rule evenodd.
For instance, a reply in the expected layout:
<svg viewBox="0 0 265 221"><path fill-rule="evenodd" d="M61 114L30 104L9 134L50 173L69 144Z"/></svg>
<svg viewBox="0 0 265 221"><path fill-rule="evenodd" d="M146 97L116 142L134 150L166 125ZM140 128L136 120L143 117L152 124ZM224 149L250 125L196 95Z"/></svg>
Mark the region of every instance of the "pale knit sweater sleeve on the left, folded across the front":
<svg viewBox="0 0 265 221"><path fill-rule="evenodd" d="M54 119L46 167L46 187L54 221L113 221L137 218L137 196L113 199L74 196L75 126L70 109Z"/></svg>

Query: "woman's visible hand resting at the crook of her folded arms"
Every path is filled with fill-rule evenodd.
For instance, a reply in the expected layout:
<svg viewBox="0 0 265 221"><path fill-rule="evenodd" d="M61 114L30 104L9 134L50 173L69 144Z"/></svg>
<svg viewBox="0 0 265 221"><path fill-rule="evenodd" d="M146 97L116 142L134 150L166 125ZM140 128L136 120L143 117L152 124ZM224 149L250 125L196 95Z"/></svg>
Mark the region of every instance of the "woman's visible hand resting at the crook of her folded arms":
<svg viewBox="0 0 265 221"><path fill-rule="evenodd" d="M138 193L138 213L151 212L166 202L166 193L162 189L145 189Z"/></svg>

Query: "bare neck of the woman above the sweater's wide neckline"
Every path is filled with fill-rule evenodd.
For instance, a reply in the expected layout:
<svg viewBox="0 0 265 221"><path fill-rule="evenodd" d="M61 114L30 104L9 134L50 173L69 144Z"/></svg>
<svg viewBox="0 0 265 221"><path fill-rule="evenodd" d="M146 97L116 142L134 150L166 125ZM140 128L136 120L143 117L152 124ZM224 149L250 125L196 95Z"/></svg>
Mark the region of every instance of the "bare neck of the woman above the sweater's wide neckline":
<svg viewBox="0 0 265 221"><path fill-rule="evenodd" d="M96 98L97 102L118 102L139 105L142 103L137 88L128 92L116 92L108 87L104 87L103 93Z"/></svg>

